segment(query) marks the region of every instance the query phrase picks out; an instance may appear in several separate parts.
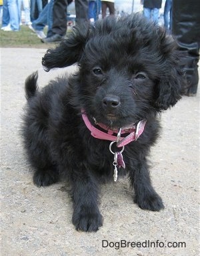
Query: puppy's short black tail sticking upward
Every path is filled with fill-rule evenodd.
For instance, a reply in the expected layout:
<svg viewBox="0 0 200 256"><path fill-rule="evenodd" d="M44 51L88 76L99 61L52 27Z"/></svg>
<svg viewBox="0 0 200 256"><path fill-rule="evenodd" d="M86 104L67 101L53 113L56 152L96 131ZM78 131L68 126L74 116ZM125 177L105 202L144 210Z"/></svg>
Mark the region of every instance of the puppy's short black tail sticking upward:
<svg viewBox="0 0 200 256"><path fill-rule="evenodd" d="M25 97L27 100L33 97L37 91L37 78L38 73L36 71L35 73L29 75L25 81Z"/></svg>

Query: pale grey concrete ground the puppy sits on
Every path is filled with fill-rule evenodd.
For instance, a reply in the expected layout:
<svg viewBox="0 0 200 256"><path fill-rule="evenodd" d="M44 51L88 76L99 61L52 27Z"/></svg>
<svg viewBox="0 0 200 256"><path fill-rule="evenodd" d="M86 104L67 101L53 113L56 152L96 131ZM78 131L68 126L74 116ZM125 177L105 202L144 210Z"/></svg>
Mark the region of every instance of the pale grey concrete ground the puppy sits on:
<svg viewBox="0 0 200 256"><path fill-rule="evenodd" d="M19 137L27 75L39 69L43 86L57 73L75 69L45 73L44 53L1 49L1 255L199 255L199 93L161 115L151 177L165 209L139 209L127 180L120 179L102 186L103 227L97 233L77 232L67 185L35 187Z"/></svg>

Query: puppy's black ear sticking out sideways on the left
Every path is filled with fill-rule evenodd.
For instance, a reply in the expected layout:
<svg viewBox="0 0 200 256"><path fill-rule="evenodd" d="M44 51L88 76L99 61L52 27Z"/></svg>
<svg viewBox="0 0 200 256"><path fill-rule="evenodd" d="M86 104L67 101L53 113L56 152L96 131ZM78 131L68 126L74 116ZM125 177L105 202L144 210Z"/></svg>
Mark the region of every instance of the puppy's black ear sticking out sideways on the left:
<svg viewBox="0 0 200 256"><path fill-rule="evenodd" d="M73 31L65 41L55 49L47 50L42 59L45 71L57 67L67 67L77 63L81 59L85 43L89 37L89 24L84 23L81 27L73 27Z"/></svg>

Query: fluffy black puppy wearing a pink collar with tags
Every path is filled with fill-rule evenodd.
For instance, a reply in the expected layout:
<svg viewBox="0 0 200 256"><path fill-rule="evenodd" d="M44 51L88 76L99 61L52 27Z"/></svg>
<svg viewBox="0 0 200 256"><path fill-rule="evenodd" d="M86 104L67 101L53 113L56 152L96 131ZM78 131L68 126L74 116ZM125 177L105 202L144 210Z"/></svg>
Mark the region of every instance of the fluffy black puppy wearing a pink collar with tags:
<svg viewBox="0 0 200 256"><path fill-rule="evenodd" d="M123 168L135 203L163 209L146 157L159 134L158 113L181 98L183 75L172 37L140 15L108 17L75 27L42 63L47 71L73 63L79 70L41 91L37 73L25 83L23 139L35 185L70 181L77 230L102 225L99 181L113 175L116 181Z"/></svg>

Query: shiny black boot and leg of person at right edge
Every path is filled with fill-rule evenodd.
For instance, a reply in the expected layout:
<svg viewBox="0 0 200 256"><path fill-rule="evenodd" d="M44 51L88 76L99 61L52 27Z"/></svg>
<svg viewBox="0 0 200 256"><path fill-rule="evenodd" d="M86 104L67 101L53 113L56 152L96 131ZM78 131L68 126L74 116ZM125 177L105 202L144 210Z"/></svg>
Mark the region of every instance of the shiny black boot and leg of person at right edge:
<svg viewBox="0 0 200 256"><path fill-rule="evenodd" d="M197 94L199 83L198 62L200 45L200 1L172 1L172 34L177 39L179 51L183 55L187 79L187 96Z"/></svg>

